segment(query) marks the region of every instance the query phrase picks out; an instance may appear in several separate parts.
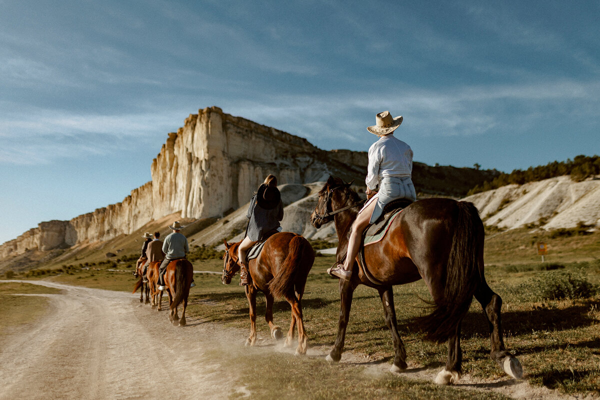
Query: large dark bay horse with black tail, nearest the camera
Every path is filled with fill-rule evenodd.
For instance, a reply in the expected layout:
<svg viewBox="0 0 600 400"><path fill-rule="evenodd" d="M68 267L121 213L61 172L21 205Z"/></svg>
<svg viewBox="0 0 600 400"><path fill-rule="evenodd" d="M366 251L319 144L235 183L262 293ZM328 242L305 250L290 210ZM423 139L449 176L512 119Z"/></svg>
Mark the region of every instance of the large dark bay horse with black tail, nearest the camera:
<svg viewBox="0 0 600 400"><path fill-rule="evenodd" d="M358 194L339 178L329 177L319 192L319 201L311 214L315 228L334 221L339 245L337 259L346 253L347 233L356 219ZM481 303L490 327L491 358L514 378L523 371L519 360L505 350L500 308L502 299L494 293L484 276L484 225L472 203L452 199L423 199L407 206L389 227L380 242L364 248L365 262L373 281L355 262L349 281L340 279L340 320L334 348L327 356L339 361L352 305L352 294L359 284L379 291L386 326L391 330L395 347L392 372L406 369L406 350L400 335L394 308L393 285L424 279L433 297L431 313L422 321L426 338L448 341L445 368L436 377L438 384L456 383L460 379L462 351L460 327L469 311L473 296Z"/></svg>

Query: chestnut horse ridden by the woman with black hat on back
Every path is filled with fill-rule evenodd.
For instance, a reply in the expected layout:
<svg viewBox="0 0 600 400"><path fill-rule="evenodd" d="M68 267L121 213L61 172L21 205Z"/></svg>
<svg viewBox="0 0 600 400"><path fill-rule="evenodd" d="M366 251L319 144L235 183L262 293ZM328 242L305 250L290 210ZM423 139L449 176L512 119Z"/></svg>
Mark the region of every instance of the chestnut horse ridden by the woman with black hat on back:
<svg viewBox="0 0 600 400"><path fill-rule="evenodd" d="M224 267L221 281L229 285L239 271L239 243L229 244L225 240ZM285 297L292 306L292 322L284 343L292 345L294 327L298 324L298 347L296 354L306 354L307 336L302 320L302 294L308 272L313 267L314 250L304 237L292 232L280 232L269 237L259 257L248 262L251 284L245 286L246 297L250 305L250 336L246 345L256 344L256 293L262 291L266 298L265 320L271 329L271 336L281 339L281 328L273 323L273 300Z"/></svg>

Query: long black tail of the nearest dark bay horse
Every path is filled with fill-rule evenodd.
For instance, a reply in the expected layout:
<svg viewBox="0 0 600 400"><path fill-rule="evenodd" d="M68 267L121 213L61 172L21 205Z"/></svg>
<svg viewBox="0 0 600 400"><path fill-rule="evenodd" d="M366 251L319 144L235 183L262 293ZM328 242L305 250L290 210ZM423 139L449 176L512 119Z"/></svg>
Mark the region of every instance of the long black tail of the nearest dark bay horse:
<svg viewBox="0 0 600 400"><path fill-rule="evenodd" d="M422 321L425 338L444 342L456 333L458 323L469 311L473 294L481 283L484 225L473 203L458 201L458 217L446 266L443 298Z"/></svg>

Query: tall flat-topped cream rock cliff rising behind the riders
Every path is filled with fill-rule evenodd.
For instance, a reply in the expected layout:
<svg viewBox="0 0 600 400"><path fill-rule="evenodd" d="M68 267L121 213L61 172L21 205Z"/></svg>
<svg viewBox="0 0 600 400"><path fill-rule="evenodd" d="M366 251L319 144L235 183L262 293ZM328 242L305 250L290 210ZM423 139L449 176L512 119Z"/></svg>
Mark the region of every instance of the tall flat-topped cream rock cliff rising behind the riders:
<svg viewBox="0 0 600 400"><path fill-rule="evenodd" d="M0 260L28 251L104 243L167 215L222 218L243 209L269 173L277 175L280 184L304 185L304 195L314 189L313 182L325 181L329 175L356 179L358 187L364 187L366 167L366 152L324 151L301 137L207 107L169 134L152 161L151 182L131 191L121 203L70 221L41 222L0 245ZM497 174L421 163L413 167L419 196L464 196ZM289 223L290 230L303 231L299 222Z"/></svg>

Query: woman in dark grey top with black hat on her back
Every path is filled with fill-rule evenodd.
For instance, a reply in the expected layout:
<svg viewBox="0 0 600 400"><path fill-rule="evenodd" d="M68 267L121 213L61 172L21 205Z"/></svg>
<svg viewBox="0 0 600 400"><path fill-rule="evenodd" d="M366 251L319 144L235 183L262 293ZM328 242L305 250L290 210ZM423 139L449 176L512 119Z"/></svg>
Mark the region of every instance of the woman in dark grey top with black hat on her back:
<svg viewBox="0 0 600 400"><path fill-rule="evenodd" d="M283 203L277 189L277 178L274 175L267 176L258 192L250 199L246 218L250 219L248 229L244 240L238 246L238 260L241 267L239 285L241 286L247 285L249 281L246 261L248 249L259 242L265 233L278 228L281 230L279 221L283 219Z"/></svg>

